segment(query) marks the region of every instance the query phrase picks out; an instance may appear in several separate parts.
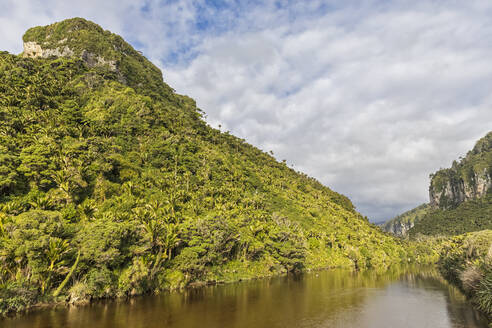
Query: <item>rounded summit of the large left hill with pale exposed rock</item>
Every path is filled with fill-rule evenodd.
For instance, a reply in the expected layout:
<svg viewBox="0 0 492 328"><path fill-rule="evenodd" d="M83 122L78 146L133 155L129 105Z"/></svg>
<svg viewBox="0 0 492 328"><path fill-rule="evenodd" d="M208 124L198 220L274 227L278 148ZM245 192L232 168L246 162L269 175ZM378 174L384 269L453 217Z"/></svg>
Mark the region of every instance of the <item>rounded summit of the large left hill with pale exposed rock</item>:
<svg viewBox="0 0 492 328"><path fill-rule="evenodd" d="M122 37L82 18L33 27L22 39L24 57L80 58L88 67L109 69L119 82L139 91L159 92L164 85L159 68Z"/></svg>

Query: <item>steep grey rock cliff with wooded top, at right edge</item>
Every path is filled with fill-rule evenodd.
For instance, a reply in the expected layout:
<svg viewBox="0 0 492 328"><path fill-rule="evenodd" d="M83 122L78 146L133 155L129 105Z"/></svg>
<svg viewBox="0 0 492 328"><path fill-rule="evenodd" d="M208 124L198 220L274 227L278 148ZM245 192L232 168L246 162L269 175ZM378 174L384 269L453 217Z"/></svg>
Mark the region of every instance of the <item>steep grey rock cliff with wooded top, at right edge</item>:
<svg viewBox="0 0 492 328"><path fill-rule="evenodd" d="M450 209L492 189L492 132L480 139L465 158L449 169L431 175L429 203L432 208Z"/></svg>

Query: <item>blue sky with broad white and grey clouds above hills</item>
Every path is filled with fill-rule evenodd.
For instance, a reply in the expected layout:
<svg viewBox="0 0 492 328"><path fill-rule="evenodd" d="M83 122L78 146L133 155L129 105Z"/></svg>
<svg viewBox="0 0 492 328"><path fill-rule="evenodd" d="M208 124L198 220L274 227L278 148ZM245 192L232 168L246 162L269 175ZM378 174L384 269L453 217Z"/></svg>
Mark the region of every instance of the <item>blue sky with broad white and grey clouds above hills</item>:
<svg viewBox="0 0 492 328"><path fill-rule="evenodd" d="M372 221L427 202L429 174L492 130L490 0L0 0L0 50L71 17Z"/></svg>

